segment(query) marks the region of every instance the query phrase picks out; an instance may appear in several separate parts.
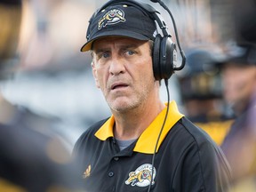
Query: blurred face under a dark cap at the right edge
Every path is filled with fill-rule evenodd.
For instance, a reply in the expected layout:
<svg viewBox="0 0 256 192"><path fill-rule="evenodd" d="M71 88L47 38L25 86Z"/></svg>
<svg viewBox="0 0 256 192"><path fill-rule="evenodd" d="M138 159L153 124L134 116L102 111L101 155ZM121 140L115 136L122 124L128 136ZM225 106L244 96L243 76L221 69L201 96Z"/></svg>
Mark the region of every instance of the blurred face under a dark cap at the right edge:
<svg viewBox="0 0 256 192"><path fill-rule="evenodd" d="M235 110L244 110L256 89L256 67L228 63L222 70L224 98Z"/></svg>

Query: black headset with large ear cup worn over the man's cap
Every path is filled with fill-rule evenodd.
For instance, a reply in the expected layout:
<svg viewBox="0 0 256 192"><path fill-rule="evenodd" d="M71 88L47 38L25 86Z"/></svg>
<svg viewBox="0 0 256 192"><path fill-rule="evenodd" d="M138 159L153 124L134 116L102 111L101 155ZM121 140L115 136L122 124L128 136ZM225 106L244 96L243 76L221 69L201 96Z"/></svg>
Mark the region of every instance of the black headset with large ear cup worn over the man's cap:
<svg viewBox="0 0 256 192"><path fill-rule="evenodd" d="M126 0L126 1L124 1L124 0L110 0L106 4L103 4L100 7L100 9L97 10L97 12L94 12L94 14L92 15L91 20L93 20L94 17L101 10L105 9L106 7L108 7L112 4L122 4L122 3L124 3L124 4L127 4L127 5L132 5L136 8L138 8L138 9L140 9L142 12L146 12L152 20L156 20L156 23L157 23L158 27L162 30L162 35L158 33L156 35L155 40L154 40L154 47L153 47L153 52L152 52L154 76L155 76L156 80L169 79L172 76L172 74L174 73L175 70L181 70L182 68L184 68L185 62L186 62L186 57L185 57L184 52L180 48L180 41L179 41L179 37L178 37L178 32L177 32L177 29L176 29L175 21L173 20L173 17L172 17L172 13L166 7L166 5L163 2L161 2L160 0L159 1L151 0L151 1L161 4L164 7L164 9L170 14L170 16L172 18L172 23L173 23L173 27L174 27L174 31L175 31L175 35L176 35L176 39L177 39L177 44L178 44L178 47L180 49L180 55L182 57L182 63L181 63L179 68L176 67L176 63L178 61L176 44L174 44L172 42L172 39L171 39L172 36L167 31L165 21L162 20L162 18L158 17L157 14L160 14L160 13L157 12L156 9L153 8L150 4L143 4L141 2L139 3L138 1L133 1L133 0ZM87 31L87 36L90 35L91 31L92 31L92 28L90 27L90 24L89 24L88 31Z"/></svg>

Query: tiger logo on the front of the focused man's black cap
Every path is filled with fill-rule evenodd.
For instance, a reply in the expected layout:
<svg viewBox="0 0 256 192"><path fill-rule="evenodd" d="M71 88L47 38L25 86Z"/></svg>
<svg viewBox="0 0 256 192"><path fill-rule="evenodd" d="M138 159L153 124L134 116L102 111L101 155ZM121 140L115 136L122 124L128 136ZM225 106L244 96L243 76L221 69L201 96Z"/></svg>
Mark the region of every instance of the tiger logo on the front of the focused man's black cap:
<svg viewBox="0 0 256 192"><path fill-rule="evenodd" d="M124 11L120 9L112 9L108 11L99 21L98 29L104 28L107 25L113 25L118 22L125 22Z"/></svg>

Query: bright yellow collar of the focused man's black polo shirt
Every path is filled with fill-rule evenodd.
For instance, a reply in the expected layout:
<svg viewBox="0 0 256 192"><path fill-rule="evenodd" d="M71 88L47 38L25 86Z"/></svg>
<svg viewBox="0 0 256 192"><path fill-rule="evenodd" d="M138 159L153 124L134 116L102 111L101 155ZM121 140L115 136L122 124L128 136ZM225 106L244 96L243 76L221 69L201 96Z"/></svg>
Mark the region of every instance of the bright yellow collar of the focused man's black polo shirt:
<svg viewBox="0 0 256 192"><path fill-rule="evenodd" d="M167 103L165 103L167 106ZM149 124L148 128L141 133L140 138L137 140L135 148L133 151L146 153L146 154L153 154L156 148L156 140L158 138L159 132L162 128L164 123L164 116L166 113L167 108L164 108L158 116L156 116L155 120ZM164 141L167 133L172 129L172 126L176 124L180 118L184 116L180 114L177 104L174 100L169 103L169 112L166 118L166 122L164 124L163 132L161 133L161 137L159 139L156 152L160 147L161 143ZM114 137L113 133L113 126L115 124L114 116L110 116L108 121L103 124L98 132L95 133L95 136L100 140L107 140L109 137ZM149 142L148 142L149 140Z"/></svg>

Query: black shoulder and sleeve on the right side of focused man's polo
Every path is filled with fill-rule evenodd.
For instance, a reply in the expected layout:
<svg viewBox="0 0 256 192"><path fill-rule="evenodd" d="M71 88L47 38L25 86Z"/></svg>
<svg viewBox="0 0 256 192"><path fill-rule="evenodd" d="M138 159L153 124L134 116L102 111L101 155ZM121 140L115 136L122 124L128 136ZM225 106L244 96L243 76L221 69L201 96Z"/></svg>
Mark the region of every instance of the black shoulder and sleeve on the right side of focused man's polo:
<svg viewBox="0 0 256 192"><path fill-rule="evenodd" d="M178 143L174 148L176 156L179 156L177 166L184 172L190 172L195 174L198 179L202 179L205 190L208 191L214 186L216 191L217 188L218 191L223 191L220 188L228 186L230 170L220 147L204 130L197 127L185 116L174 125L171 131L176 133L172 139ZM195 170L200 171L196 173ZM192 179L189 178L189 180ZM213 190L215 191L214 188L212 188Z"/></svg>

